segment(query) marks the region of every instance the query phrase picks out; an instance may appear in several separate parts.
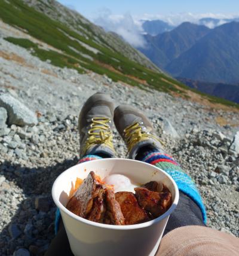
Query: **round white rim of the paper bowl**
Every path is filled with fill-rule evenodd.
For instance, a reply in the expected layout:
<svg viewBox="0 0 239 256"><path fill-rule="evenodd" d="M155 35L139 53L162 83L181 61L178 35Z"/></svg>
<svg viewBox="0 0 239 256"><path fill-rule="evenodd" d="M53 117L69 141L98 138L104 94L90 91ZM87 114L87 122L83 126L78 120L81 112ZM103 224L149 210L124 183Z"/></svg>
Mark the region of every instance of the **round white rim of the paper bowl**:
<svg viewBox="0 0 239 256"><path fill-rule="evenodd" d="M94 221L89 221L86 220L85 218L79 217L75 214L73 214L71 211L69 211L68 209L66 209L65 206L62 205L62 203L60 202L59 199L57 199L56 197L56 185L57 185L57 181L58 179L60 179L60 176L64 175L65 172L68 172L70 169L72 169L75 166L78 166L79 164L87 164L91 161L115 161L115 160L119 160L119 161L134 161L137 162L137 164L143 164L145 166L150 166L151 168L157 170L158 172L163 172L168 179L170 179L170 181L173 183L174 186L174 190L175 190L175 197L174 200L172 202L172 205L170 206L170 208L168 209L167 212L165 212L163 215L161 215L158 218L155 218L154 220L151 221L146 221L145 223L140 223L140 224L133 224L133 225L109 225L109 224L103 224L103 223L96 223ZM160 222L161 220L163 220L164 218L168 217L176 208L177 203L179 201L179 189L177 187L176 182L173 180L173 178L171 178L170 175L168 175L168 173L166 173L164 170L158 168L157 166L154 166L152 164L149 163L145 163L143 161L137 161L137 160L133 160L133 159L123 159L123 158L112 158L112 159L97 159L97 160L91 160L91 161L86 161L84 163L79 163L79 164L75 164L74 166L71 166L70 168L66 169L64 172L62 172L59 176L57 176L56 180L53 183L53 187L51 190L51 194L54 200L54 203L56 204L56 206L60 209L60 212L63 211L66 215L68 215L69 217L73 218L76 221L80 221L81 223L87 224L87 225L92 225L94 227L99 227L99 228L106 228L106 229L113 229L113 230L132 230L132 229L137 229L137 228L144 228L144 227L149 227L155 223Z"/></svg>

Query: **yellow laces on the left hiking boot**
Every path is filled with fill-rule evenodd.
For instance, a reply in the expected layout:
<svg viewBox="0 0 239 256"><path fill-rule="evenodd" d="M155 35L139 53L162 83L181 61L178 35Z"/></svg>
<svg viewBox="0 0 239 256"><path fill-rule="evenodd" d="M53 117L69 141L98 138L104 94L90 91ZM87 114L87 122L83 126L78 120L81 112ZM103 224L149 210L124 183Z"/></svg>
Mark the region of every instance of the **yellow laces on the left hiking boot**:
<svg viewBox="0 0 239 256"><path fill-rule="evenodd" d="M91 119L91 128L88 130L89 137L87 138L84 152L95 144L105 144L114 151L113 135L109 123L111 123L111 120L106 117L93 117Z"/></svg>

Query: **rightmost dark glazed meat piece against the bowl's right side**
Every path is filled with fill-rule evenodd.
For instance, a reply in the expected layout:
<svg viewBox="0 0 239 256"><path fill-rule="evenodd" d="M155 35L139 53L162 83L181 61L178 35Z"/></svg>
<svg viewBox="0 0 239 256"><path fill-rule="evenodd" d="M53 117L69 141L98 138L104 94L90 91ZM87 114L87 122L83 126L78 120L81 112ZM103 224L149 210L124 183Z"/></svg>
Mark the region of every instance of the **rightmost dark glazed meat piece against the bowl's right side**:
<svg viewBox="0 0 239 256"><path fill-rule="evenodd" d="M142 187L134 188L134 190L139 205L155 218L164 214L171 206L171 193L165 185L163 185L163 190L160 193Z"/></svg>

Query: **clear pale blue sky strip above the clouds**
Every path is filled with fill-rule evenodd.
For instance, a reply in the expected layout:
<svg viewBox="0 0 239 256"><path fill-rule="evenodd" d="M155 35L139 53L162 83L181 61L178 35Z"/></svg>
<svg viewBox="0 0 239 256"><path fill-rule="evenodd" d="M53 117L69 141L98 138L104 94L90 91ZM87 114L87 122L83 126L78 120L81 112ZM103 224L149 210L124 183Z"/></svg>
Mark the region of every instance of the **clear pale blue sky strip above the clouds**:
<svg viewBox="0 0 239 256"><path fill-rule="evenodd" d="M232 14L239 12L238 0L59 0L64 5L72 6L88 19L94 19L102 9L111 10L112 14L176 14L176 13L213 13Z"/></svg>

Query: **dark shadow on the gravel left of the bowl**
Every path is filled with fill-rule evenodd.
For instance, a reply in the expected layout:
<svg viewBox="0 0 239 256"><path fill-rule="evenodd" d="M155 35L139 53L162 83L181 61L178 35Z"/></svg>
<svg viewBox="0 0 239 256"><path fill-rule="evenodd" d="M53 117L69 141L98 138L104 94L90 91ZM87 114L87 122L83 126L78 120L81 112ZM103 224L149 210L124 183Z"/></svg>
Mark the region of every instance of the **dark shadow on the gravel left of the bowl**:
<svg viewBox="0 0 239 256"><path fill-rule="evenodd" d="M5 161L0 166L5 181L0 186L2 209L14 207L14 197L23 194L10 223L0 233L0 255L13 255L18 248L26 248L30 255L43 255L54 236L56 206L51 199L54 180L64 170L76 164L78 159L65 160L52 166L27 168ZM16 184L15 186L13 184ZM22 189L22 193L16 189ZM5 219L1 216L1 221Z"/></svg>

